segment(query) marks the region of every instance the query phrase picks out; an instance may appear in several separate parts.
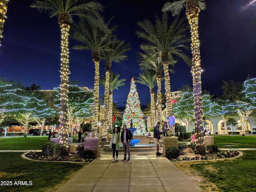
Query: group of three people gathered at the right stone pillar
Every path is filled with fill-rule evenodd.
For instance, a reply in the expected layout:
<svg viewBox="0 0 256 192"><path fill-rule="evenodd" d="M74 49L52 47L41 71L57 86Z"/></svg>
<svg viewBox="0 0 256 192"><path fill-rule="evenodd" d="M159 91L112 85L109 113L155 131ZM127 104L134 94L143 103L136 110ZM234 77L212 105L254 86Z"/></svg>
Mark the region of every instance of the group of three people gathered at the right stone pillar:
<svg viewBox="0 0 256 192"><path fill-rule="evenodd" d="M172 135L174 135L175 133L175 117L173 116L172 113L170 113L170 117L168 119L168 124L169 127L167 125L167 122L165 121L163 126L162 126L162 131L160 131L160 122L158 122L156 124L156 126L154 127L154 141L156 144L156 155L162 155L162 153L159 152L159 140L162 134L164 134L164 136L169 136L168 135L168 131L171 130L172 131Z"/></svg>

